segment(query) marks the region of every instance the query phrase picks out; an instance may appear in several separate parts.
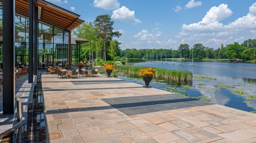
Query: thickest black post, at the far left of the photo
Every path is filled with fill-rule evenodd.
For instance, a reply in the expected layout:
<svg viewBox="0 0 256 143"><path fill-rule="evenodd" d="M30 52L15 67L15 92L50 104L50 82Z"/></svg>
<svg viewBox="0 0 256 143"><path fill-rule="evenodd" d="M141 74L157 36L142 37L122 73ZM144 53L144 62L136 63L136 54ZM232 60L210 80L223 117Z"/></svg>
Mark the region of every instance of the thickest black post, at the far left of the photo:
<svg viewBox="0 0 256 143"><path fill-rule="evenodd" d="M2 51L3 51L3 114L14 114L15 76L14 76L14 38L15 38L15 1L2 1Z"/></svg>

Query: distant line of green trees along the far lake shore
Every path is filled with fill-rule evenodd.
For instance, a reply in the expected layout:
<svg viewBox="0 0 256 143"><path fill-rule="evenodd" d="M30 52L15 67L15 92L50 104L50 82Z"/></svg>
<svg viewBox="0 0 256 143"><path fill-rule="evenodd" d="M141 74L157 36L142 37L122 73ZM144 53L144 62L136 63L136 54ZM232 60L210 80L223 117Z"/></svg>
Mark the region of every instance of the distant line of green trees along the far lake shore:
<svg viewBox="0 0 256 143"><path fill-rule="evenodd" d="M239 60L254 60L256 52L256 39L248 39L239 44L234 42L224 46L223 44L217 48L209 48L203 46L202 43L196 43L190 47L187 43L181 43L178 49L124 49L121 50L120 57L127 58L193 58L195 60L208 59L239 59Z"/></svg>

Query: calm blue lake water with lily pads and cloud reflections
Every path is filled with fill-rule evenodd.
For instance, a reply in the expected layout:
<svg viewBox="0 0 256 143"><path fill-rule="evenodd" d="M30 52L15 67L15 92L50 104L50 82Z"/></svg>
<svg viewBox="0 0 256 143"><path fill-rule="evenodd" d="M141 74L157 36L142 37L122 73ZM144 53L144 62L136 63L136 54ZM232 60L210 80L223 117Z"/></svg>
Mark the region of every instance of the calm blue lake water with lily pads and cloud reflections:
<svg viewBox="0 0 256 143"><path fill-rule="evenodd" d="M187 94L190 97L209 97L212 102L216 104L225 105L227 107L237 108L244 111L255 111L256 100L249 100L246 97L256 96L256 64L248 63L215 63L215 62L194 62L195 67L189 66L191 62L183 62L184 66L161 63L137 63L135 66L158 67L165 69L183 69L192 71L194 77L207 76L217 80L195 80L193 79L193 86L191 89L178 89L186 90L180 92ZM137 80L137 83L144 84L142 81ZM198 86L198 84L204 84ZM159 89L165 88L164 84L158 82L151 82L151 86ZM229 88L222 88L218 85L229 85ZM171 86L171 85L169 85ZM232 86L232 87L231 87ZM233 91L242 91L246 95L234 94Z"/></svg>

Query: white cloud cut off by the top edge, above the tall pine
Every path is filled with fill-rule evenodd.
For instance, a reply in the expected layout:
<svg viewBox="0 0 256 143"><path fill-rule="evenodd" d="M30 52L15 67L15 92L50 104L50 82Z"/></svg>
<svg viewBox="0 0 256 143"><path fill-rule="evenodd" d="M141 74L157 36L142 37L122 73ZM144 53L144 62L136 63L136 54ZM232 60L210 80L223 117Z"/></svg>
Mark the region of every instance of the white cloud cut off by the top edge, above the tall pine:
<svg viewBox="0 0 256 143"><path fill-rule="evenodd" d="M103 8L104 10L115 10L120 7L118 0L94 0L94 7Z"/></svg>

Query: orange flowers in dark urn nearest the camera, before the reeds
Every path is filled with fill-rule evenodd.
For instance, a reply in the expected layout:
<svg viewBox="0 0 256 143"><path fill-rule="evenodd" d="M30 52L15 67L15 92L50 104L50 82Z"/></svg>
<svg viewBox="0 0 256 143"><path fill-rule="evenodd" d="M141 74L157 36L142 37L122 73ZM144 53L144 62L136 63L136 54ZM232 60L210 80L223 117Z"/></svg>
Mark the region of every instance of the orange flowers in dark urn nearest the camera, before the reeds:
<svg viewBox="0 0 256 143"><path fill-rule="evenodd" d="M152 80L155 71L156 70L153 69L152 67L147 67L145 69L140 69L140 73L138 75L143 77L143 80L144 80L145 85L146 85L146 86L143 86L144 88L151 88L151 86L149 86L149 83Z"/></svg>

